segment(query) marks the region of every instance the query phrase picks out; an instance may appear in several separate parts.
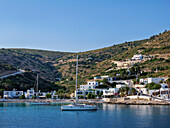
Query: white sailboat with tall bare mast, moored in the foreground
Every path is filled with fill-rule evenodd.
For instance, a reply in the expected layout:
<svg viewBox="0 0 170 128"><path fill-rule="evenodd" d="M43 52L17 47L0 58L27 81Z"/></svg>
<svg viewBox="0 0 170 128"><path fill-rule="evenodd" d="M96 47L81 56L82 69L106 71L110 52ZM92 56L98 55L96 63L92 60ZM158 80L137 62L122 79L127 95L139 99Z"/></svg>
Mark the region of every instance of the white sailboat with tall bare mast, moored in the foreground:
<svg viewBox="0 0 170 128"><path fill-rule="evenodd" d="M78 104L77 73L78 73L78 55L77 55L77 65L76 65L76 91L75 91L76 100L75 100L74 104L61 106L61 110L62 111L90 111L90 110L97 110L98 108L96 107L96 105Z"/></svg>

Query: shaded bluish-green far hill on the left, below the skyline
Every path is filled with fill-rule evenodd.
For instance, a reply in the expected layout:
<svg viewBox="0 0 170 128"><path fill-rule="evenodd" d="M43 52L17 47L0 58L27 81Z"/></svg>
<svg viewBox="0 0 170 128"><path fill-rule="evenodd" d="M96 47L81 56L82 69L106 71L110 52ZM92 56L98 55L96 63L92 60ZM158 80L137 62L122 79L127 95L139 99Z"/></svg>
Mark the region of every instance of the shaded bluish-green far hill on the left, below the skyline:
<svg viewBox="0 0 170 128"><path fill-rule="evenodd" d="M10 64L16 69L26 71L38 71L42 77L48 80L54 80L61 77L53 63L58 58L71 53L53 52L34 49L0 49L0 61L4 64Z"/></svg>

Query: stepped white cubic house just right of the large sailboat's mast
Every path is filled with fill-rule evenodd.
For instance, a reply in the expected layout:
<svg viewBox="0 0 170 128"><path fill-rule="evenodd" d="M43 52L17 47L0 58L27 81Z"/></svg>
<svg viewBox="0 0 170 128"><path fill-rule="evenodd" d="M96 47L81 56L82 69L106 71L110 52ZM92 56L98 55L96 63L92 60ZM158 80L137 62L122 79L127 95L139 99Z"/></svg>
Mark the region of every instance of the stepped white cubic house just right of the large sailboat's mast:
<svg viewBox="0 0 170 128"><path fill-rule="evenodd" d="M97 81L88 81L87 85L80 85L80 90L95 89L97 86L99 86Z"/></svg>

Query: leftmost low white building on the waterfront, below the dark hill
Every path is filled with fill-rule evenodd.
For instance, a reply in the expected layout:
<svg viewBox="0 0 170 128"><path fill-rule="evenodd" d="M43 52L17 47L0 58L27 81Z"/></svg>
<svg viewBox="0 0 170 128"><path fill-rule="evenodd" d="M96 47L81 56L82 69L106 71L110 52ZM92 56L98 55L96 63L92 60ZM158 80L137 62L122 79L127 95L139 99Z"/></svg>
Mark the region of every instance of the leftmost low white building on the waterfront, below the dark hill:
<svg viewBox="0 0 170 128"><path fill-rule="evenodd" d="M23 91L13 89L12 91L4 91L3 98L19 98L21 95L23 95Z"/></svg>

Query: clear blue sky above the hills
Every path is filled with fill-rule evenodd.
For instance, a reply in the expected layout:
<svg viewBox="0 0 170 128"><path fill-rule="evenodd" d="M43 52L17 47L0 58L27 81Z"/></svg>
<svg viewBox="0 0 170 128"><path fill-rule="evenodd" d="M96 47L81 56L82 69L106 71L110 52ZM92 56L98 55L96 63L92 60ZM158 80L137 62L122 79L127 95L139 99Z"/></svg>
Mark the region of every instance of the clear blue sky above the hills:
<svg viewBox="0 0 170 128"><path fill-rule="evenodd" d="M169 0L0 0L0 47L80 52L170 28Z"/></svg>

